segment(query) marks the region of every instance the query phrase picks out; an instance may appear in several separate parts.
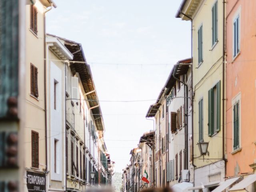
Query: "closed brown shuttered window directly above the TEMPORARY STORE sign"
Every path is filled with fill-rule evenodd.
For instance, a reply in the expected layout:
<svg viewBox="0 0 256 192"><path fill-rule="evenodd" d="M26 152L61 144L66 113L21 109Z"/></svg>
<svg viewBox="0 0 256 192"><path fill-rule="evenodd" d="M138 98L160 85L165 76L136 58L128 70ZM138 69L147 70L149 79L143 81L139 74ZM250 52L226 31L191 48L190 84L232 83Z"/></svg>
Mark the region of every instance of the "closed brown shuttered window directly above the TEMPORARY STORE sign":
<svg viewBox="0 0 256 192"><path fill-rule="evenodd" d="M39 168L39 134L31 131L32 167Z"/></svg>

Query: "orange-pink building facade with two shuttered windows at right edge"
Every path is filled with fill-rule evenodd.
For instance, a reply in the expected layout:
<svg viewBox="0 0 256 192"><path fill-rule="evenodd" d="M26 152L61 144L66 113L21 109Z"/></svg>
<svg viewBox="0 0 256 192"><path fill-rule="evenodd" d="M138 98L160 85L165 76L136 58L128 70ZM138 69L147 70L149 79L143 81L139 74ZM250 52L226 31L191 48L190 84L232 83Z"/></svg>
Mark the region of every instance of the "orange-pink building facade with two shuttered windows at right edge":
<svg viewBox="0 0 256 192"><path fill-rule="evenodd" d="M226 3L226 176L256 165L256 1Z"/></svg>

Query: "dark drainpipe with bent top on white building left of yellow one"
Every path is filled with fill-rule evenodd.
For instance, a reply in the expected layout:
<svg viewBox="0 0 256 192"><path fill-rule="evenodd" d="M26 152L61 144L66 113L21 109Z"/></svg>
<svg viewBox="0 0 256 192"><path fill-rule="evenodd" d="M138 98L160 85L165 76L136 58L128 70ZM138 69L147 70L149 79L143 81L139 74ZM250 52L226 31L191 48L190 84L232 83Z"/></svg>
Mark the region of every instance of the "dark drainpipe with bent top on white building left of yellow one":
<svg viewBox="0 0 256 192"><path fill-rule="evenodd" d="M174 70L174 73L176 73L178 66L176 66L176 69ZM186 116L186 128L185 128L185 155L186 155L186 162L184 162L184 169L188 169L188 85L184 82L182 82L181 80L179 80L178 78L176 78L176 76L174 76L174 73L172 74L172 76L174 77L174 79L176 79L178 82L184 84L184 104L186 106L186 113L184 112L185 116ZM185 87L186 87L186 93L185 93ZM185 95L186 94L186 95ZM185 107L184 107L185 110Z"/></svg>

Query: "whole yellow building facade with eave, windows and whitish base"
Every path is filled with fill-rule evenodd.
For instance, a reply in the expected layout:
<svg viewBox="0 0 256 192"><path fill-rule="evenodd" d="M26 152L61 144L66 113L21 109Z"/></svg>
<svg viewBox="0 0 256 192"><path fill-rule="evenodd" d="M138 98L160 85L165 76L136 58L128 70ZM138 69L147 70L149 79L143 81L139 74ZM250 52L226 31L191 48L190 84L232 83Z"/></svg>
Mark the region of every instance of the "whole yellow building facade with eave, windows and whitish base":
<svg viewBox="0 0 256 192"><path fill-rule="evenodd" d="M194 185L202 183L205 191L216 188L225 177L222 10L220 0L184 0L176 14L192 20ZM209 142L204 157L200 142Z"/></svg>

